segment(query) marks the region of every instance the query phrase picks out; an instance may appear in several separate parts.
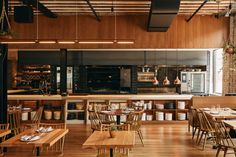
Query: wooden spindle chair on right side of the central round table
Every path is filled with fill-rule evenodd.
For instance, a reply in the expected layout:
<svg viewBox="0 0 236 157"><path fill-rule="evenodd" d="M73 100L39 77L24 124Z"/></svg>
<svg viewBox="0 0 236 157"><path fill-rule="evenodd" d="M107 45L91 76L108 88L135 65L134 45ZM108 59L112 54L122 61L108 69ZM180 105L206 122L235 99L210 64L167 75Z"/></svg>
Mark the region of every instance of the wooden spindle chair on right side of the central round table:
<svg viewBox="0 0 236 157"><path fill-rule="evenodd" d="M141 131L141 125L142 125L142 115L143 115L144 109L140 111L133 111L130 112L130 114L127 117L127 120L125 124L130 124L130 129L133 131L136 131L139 135L139 138L142 142L142 145L144 146L143 143L143 135Z"/></svg>

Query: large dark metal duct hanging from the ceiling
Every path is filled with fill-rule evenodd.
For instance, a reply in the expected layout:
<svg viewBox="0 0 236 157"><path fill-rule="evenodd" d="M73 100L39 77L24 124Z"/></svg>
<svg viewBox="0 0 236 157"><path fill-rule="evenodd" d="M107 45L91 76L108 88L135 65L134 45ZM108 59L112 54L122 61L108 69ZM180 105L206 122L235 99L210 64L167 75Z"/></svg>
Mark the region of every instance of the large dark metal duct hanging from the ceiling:
<svg viewBox="0 0 236 157"><path fill-rule="evenodd" d="M152 0L148 32L166 32L179 11L180 0Z"/></svg>

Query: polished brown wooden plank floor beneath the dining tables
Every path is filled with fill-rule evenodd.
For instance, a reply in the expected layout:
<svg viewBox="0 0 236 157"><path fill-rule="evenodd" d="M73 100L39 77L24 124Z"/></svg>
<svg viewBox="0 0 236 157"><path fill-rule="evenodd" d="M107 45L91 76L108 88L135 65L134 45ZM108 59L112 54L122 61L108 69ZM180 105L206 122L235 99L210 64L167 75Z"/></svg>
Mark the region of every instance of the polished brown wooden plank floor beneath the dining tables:
<svg viewBox="0 0 236 157"><path fill-rule="evenodd" d="M81 148L91 134L90 126L69 125L68 128L70 132L65 140L64 157L96 157L96 150ZM130 157L214 157L216 154L211 143L207 144L205 151L201 150L202 147L194 145L186 124L148 124L142 126L142 132L145 146L141 145L137 135L136 145L130 152ZM31 150L11 148L5 156L33 156ZM58 155L42 153L41 156ZM223 154L221 153L220 156Z"/></svg>

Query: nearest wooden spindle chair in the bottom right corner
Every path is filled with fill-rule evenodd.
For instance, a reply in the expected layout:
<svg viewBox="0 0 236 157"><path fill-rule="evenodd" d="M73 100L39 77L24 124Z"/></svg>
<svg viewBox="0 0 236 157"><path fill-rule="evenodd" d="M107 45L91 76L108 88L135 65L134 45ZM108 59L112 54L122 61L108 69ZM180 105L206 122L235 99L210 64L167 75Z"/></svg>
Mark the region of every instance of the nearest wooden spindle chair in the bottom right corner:
<svg viewBox="0 0 236 157"><path fill-rule="evenodd" d="M236 145L231 139L230 134L226 126L222 121L215 122L216 126L216 141L217 141L217 153L216 157L219 156L220 151L224 151L224 157L227 154L229 149L233 150L233 153L236 156Z"/></svg>

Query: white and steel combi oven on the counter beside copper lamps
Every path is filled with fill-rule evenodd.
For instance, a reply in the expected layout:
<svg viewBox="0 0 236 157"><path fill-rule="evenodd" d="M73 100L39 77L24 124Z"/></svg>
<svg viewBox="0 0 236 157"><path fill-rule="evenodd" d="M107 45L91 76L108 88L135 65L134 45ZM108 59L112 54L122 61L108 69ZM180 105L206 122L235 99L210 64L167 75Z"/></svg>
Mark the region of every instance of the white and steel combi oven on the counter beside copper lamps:
<svg viewBox="0 0 236 157"><path fill-rule="evenodd" d="M208 93L206 72L181 72L181 93L206 94Z"/></svg>

